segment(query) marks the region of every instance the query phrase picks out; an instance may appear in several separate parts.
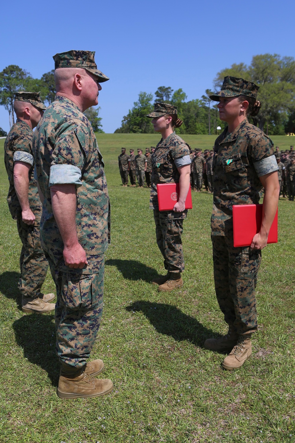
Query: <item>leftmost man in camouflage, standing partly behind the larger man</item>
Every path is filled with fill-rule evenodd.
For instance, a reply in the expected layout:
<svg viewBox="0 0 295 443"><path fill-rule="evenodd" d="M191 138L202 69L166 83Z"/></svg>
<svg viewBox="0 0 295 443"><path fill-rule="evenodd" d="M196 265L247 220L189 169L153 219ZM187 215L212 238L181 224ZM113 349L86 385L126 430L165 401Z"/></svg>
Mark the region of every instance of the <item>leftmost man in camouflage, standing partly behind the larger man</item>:
<svg viewBox="0 0 295 443"><path fill-rule="evenodd" d="M11 216L17 222L22 250L19 257L22 310L24 312L49 312L55 303L54 294L42 294L48 268L40 243L40 202L37 182L34 179L34 158L31 148L33 129L37 126L46 106L39 93L15 94L13 109L17 120L8 132L4 144L4 163L8 174L7 202Z"/></svg>

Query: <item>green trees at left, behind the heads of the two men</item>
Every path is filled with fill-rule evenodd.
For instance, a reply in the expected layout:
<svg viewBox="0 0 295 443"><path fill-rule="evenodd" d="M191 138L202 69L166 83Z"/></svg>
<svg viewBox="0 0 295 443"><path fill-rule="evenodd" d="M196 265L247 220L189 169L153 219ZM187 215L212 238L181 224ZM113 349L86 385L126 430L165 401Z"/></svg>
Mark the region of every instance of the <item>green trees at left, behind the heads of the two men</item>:
<svg viewBox="0 0 295 443"><path fill-rule="evenodd" d="M14 94L19 91L39 92L41 100L48 106L56 94L54 83L54 70L46 72L41 78L33 78L29 72L17 65L9 65L0 72L0 105L8 111L9 125L15 123L13 112ZM95 132L103 132L101 117L98 117L100 107L88 108L84 114L92 124ZM0 136L7 136L7 133L0 128Z"/></svg>

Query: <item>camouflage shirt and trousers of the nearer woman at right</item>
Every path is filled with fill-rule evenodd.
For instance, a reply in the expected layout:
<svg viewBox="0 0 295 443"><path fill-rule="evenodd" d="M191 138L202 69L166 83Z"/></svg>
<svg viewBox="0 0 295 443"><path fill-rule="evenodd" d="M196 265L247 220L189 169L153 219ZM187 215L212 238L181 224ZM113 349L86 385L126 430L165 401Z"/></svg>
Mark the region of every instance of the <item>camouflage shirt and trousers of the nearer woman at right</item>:
<svg viewBox="0 0 295 443"><path fill-rule="evenodd" d="M234 248L232 207L257 204L262 175L277 171L272 141L245 119L216 139L212 163L214 190L211 238L219 307L238 334L257 330L255 287L261 250Z"/></svg>

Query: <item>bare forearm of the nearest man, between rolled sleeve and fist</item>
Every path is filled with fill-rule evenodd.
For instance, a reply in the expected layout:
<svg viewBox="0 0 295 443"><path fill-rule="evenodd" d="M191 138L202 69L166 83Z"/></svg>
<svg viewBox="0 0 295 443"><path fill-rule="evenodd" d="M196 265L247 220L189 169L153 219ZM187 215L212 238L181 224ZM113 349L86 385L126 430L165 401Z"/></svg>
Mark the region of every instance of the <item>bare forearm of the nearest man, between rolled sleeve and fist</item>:
<svg viewBox="0 0 295 443"><path fill-rule="evenodd" d="M52 210L64 245L78 243L76 228L77 197L73 184L54 185L50 188Z"/></svg>

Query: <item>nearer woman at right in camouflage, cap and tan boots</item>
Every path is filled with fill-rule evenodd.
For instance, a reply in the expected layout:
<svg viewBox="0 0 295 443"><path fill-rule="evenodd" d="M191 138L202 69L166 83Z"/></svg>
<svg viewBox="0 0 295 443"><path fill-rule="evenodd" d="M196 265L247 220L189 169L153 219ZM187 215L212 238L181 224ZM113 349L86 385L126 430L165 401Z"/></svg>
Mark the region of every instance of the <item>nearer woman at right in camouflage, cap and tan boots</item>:
<svg viewBox="0 0 295 443"><path fill-rule="evenodd" d="M279 180L273 143L247 116L256 116L261 103L256 100L259 87L242 78L225 77L221 91L210 96L219 101L220 120L228 126L216 139L213 170L213 212L211 238L215 291L219 307L229 325L228 333L209 338L204 346L231 351L222 367L240 368L251 357L251 335L257 331L255 287L261 263L261 249L279 200ZM264 217L260 232L251 245L234 248L233 205L258 204L264 188Z"/></svg>

